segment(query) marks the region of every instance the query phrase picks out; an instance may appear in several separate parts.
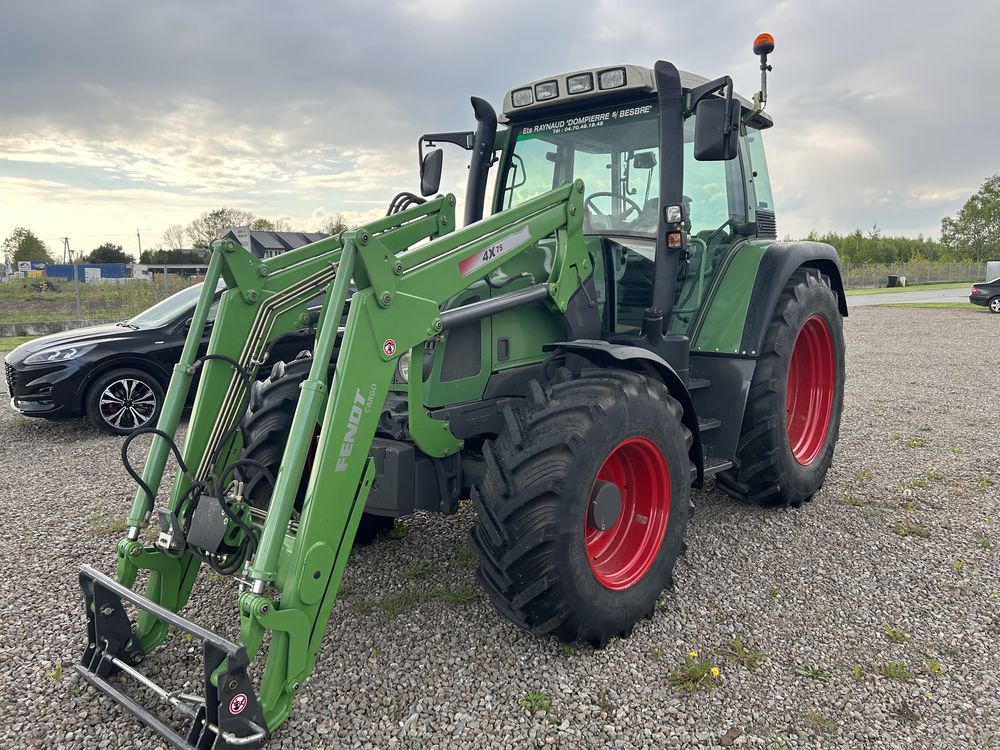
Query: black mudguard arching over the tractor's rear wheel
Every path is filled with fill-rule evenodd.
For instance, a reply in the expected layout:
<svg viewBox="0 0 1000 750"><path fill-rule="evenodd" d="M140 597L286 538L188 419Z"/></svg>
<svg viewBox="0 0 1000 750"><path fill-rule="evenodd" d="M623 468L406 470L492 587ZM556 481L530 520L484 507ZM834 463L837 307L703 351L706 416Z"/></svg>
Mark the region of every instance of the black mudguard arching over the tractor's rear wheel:
<svg viewBox="0 0 1000 750"><path fill-rule="evenodd" d="M775 242L764 251L757 268L757 279L743 325L741 352L750 356L757 356L760 352L778 297L792 274L803 266L815 268L830 277L840 314L847 317L847 297L844 296L837 251L822 242Z"/></svg>

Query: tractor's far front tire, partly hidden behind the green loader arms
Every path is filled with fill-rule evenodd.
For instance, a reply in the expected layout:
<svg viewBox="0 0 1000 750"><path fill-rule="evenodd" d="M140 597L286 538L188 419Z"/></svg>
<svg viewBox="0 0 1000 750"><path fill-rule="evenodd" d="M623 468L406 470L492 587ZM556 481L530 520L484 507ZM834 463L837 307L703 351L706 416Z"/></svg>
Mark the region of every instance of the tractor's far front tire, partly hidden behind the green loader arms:
<svg viewBox="0 0 1000 750"><path fill-rule="evenodd" d="M250 408L243 421L244 448L240 458L258 461L267 467L272 476L277 476L281 457L285 452L285 442L295 415L295 405L299 400L299 385L309 376L312 357L300 354L291 362L278 362L266 380L255 383L250 398ZM331 365L332 373L332 365ZM313 439L315 448L315 438ZM306 468L312 465L312 451ZM302 510L305 500L307 473L303 472L302 483L295 499L296 512ZM261 471L241 468L240 478L244 482L243 495L255 508L267 510L271 504L271 483ZM355 544L369 544L395 523L394 518L365 513L358 524L354 537Z"/></svg>

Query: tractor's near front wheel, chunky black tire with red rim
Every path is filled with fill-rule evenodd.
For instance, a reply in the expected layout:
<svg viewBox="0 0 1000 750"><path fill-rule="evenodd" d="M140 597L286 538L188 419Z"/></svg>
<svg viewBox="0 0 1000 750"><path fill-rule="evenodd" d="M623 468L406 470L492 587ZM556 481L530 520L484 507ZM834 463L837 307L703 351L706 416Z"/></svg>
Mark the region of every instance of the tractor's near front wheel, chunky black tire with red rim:
<svg viewBox="0 0 1000 750"><path fill-rule="evenodd" d="M659 381L559 370L484 448L478 577L516 625L603 647L651 616L689 515L692 437Z"/></svg>

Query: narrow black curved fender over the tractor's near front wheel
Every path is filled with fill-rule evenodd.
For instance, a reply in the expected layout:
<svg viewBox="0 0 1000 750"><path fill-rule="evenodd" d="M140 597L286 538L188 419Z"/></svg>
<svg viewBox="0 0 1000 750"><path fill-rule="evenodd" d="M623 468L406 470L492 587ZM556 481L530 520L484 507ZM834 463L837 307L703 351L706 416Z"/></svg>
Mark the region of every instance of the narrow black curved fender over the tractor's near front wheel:
<svg viewBox="0 0 1000 750"><path fill-rule="evenodd" d="M610 344L607 341L578 339L576 341L546 344L542 348L545 351L562 351L569 354L576 354L598 367L620 367L659 378L667 386L670 395L677 399L683 410L681 422L691 431L691 437L693 438L691 460L698 471L695 486L701 487L705 478L705 467L702 456L701 433L698 429L698 415L695 413L691 394L688 392L683 379L666 360L648 349L638 346L628 346L627 344Z"/></svg>

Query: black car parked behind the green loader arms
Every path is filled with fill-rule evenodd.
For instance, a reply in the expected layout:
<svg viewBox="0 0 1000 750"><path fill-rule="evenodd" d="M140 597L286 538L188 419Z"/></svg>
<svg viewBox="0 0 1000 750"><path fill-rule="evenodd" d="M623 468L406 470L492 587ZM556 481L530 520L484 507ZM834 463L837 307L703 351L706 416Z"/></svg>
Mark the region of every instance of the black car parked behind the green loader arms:
<svg viewBox="0 0 1000 750"><path fill-rule="evenodd" d="M86 415L117 435L156 424L201 286L177 292L131 320L55 333L17 347L4 366L11 406L28 417ZM220 286L216 292L199 354L208 347L223 291ZM313 340L310 330L282 337L271 347L268 363L294 359L311 349ZM258 371L262 377L271 369L268 363Z"/></svg>

